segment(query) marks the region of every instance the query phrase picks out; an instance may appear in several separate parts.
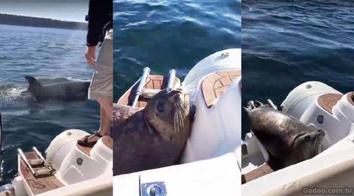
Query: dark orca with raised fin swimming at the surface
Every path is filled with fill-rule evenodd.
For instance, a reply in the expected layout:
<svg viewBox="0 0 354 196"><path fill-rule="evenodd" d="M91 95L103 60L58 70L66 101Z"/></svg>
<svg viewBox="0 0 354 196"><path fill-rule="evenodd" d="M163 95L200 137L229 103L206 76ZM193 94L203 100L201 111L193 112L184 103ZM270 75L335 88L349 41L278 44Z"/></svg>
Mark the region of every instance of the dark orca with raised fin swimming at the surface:
<svg viewBox="0 0 354 196"><path fill-rule="evenodd" d="M26 75L29 82L27 92L32 94L36 101L46 100L86 100L90 82L59 82L42 85L36 78Z"/></svg>

